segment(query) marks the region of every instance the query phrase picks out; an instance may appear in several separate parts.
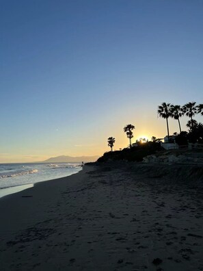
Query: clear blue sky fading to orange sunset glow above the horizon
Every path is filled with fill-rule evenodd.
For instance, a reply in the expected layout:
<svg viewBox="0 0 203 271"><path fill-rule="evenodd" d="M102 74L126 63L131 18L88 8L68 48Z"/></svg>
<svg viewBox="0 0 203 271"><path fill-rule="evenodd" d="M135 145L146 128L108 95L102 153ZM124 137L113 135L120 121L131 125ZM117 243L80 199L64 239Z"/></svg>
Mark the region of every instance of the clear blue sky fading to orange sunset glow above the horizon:
<svg viewBox="0 0 203 271"><path fill-rule="evenodd" d="M202 0L0 3L0 163L163 138L158 105L203 103Z"/></svg>

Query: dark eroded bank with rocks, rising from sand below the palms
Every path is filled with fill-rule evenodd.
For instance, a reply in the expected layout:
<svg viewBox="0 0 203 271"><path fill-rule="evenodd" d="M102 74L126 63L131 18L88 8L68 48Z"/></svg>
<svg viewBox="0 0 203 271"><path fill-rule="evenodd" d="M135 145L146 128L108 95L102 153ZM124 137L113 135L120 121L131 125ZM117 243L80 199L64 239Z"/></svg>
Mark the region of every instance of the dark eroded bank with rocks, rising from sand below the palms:
<svg viewBox="0 0 203 271"><path fill-rule="evenodd" d="M101 163L98 163L100 165ZM137 176L148 183L189 185L189 188L203 188L203 151L173 150L157 151L143 158L142 162L125 159L107 159L103 166L124 168L128 175Z"/></svg>

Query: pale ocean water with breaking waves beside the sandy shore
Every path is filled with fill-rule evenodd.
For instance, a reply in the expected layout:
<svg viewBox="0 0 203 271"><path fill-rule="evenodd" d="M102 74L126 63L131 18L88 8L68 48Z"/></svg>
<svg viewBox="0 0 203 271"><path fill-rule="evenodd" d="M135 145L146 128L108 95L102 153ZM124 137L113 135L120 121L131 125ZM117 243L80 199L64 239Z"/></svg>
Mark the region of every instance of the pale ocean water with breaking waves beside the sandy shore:
<svg viewBox="0 0 203 271"><path fill-rule="evenodd" d="M34 183L70 176L81 170L81 163L0 164L0 198Z"/></svg>

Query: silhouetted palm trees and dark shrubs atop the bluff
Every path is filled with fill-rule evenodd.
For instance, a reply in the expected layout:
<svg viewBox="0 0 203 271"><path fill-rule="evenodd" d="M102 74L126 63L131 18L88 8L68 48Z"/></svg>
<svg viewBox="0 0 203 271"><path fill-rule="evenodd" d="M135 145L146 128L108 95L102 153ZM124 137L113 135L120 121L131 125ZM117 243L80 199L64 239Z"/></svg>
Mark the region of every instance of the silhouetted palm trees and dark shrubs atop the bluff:
<svg viewBox="0 0 203 271"><path fill-rule="evenodd" d="M168 142L177 143L179 146L185 145L188 143L201 143L203 144L203 124L201 122L197 122L193 117L196 114L201 114L203 116L203 104L200 103L196 105L195 102L189 102L183 105L172 105L171 103L162 103L159 105L157 114L161 118L166 119L167 123L167 137ZM189 121L187 122L188 131L182 131L180 126L180 118L182 116L188 116ZM178 120L178 126L180 133L174 133L170 136L170 129L168 119L174 118L174 120ZM148 142L146 138L140 138L136 140L136 144L131 143L131 139L133 138L133 129L135 129L134 125L126 125L124 127L124 132L129 138L129 145L126 149L120 149L120 151L113 151L113 146L115 143L115 138L108 138L108 146L111 148L111 152L105 153L102 157L98 159L98 162L106 162L107 160L126 160L126 161L136 161L141 162L144 157L147 155L152 155L157 153L157 151L163 150L161 147L161 139L157 139L152 136L152 141Z"/></svg>

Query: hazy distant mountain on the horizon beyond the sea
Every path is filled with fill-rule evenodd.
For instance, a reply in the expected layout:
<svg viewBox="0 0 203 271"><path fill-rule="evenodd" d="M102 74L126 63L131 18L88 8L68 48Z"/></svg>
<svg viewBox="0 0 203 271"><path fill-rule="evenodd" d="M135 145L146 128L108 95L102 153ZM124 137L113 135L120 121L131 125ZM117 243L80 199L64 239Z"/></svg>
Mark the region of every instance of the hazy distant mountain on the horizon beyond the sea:
<svg viewBox="0 0 203 271"><path fill-rule="evenodd" d="M71 157L71 156L67 156L67 155L61 155L61 156L57 156L57 157L51 157L43 162L45 163L73 163L73 162L95 162L98 159L98 155L96 156L79 156L79 157Z"/></svg>

